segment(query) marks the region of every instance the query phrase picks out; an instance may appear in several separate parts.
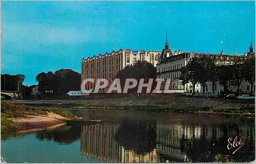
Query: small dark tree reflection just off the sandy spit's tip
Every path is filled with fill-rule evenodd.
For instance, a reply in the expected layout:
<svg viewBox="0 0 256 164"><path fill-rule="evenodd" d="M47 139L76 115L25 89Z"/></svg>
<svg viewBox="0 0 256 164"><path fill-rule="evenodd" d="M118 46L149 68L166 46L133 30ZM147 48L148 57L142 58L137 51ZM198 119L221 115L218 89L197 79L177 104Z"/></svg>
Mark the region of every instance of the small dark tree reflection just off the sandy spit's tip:
<svg viewBox="0 0 256 164"><path fill-rule="evenodd" d="M54 130L42 130L35 133L38 140L53 140L61 145L70 145L80 138L81 127L60 126Z"/></svg>

